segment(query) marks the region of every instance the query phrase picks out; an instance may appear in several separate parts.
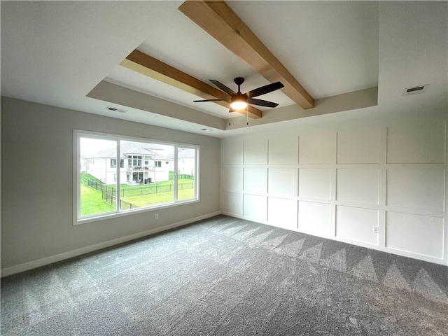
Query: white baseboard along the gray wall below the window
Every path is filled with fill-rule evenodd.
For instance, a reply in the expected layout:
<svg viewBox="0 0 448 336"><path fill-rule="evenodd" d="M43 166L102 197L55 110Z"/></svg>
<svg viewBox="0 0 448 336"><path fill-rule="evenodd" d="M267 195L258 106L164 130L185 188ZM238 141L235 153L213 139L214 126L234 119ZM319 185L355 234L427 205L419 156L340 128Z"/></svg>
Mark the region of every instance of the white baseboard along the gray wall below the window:
<svg viewBox="0 0 448 336"><path fill-rule="evenodd" d="M166 230L169 230L169 229L178 228L179 226L187 225L187 224L190 224L190 223L194 223L196 221L201 221L202 219L210 218L210 217L217 216L217 215L220 215L220 214L221 214L221 211L216 211L216 212L211 213L211 214L206 214L206 215L202 215L202 216L195 217L195 218L189 218L189 219L187 219L185 221L180 221L180 222L177 222L177 223L164 225L164 226L161 226L160 228L154 228L154 229L147 230L147 231L144 231L144 232L135 233L134 235L129 235L129 236L126 236L126 237L120 237L120 238L112 239L112 240L109 240L109 241L104 241L104 242L99 243L99 244L94 244L94 245L91 245L91 246L85 246L83 248L78 248L78 249L73 250L73 251L68 251L68 252L57 254L57 255L51 255L50 257L46 257L46 258L42 258L42 259L38 259L38 260L33 260L33 261L30 261L30 262L25 262L24 264L15 265L13 267L8 267L8 268L1 269L1 272L0 272L1 275L0 276L3 277L3 276L11 275L11 274L24 272L24 271L27 271L29 269L34 269L36 267L41 267L41 266L44 266L44 265L52 264L53 262L66 260L66 259L69 259L69 258L76 257L78 255L82 255L82 254L85 254L85 253L97 251L97 250L100 250L102 248L106 248L106 247L118 245L118 244L121 244L121 243L125 243L126 241L131 241L131 240L138 239L138 238L141 238L141 237L146 237L148 235L154 235L155 233L166 231Z"/></svg>

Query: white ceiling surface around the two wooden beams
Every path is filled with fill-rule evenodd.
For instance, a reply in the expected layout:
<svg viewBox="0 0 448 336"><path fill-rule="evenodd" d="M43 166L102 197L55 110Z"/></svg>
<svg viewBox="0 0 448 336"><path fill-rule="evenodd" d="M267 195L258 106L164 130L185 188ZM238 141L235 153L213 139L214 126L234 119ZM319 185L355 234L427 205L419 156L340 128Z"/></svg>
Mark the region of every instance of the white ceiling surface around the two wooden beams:
<svg viewBox="0 0 448 336"><path fill-rule="evenodd" d="M197 99L193 94L118 65L135 48L204 82L216 79L236 88L232 80L242 76L246 78L243 92L267 84L186 18L177 9L181 3L1 1L1 94L200 133L204 128L200 118L186 121L118 104L113 106L128 112L111 113L104 110L111 103L86 97L105 80L228 118L222 106L193 103ZM378 106L369 108L370 113L440 109L447 104L446 2L228 4L315 99L378 86ZM402 97L405 87L426 83L430 86L425 94ZM294 104L280 91L260 98L279 103L279 111ZM247 132L253 132L251 128ZM232 132L216 129L207 135L228 137L236 133Z"/></svg>

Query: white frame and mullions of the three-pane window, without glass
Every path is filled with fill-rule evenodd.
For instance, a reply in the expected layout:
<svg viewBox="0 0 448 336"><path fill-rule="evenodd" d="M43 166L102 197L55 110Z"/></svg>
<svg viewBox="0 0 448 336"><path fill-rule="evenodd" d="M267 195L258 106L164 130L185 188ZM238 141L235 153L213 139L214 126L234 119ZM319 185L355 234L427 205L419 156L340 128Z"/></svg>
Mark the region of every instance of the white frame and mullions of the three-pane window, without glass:
<svg viewBox="0 0 448 336"><path fill-rule="evenodd" d="M111 140L117 142L117 163L120 160L120 141L139 141L139 142L147 142L148 144L160 144L160 145L168 145L168 146L174 146L174 201L168 202L164 204L157 204L154 206L148 206L148 207L141 207L136 209L119 209L119 207L116 208L115 211L109 211L102 214L94 214L94 215L88 215L88 216L80 216L80 138L81 137L90 137L92 139L102 139L102 140ZM178 183L178 173L177 173L177 160L178 160L178 148L193 148L195 149L196 153L196 160L195 160L195 197L189 200L177 200L177 183ZM121 184L120 182L120 170L124 169L126 171L126 168L120 167L120 165L117 165L116 167L116 174L117 174L117 190L119 189L119 186ZM121 216L130 216L132 214L142 213L142 212L148 212L148 211L155 211L159 209L164 208L170 208L170 207L178 207L184 204L191 204L200 202L200 145L197 144L184 144L180 142L174 142L174 141L164 141L164 140L158 140L158 139L147 139L147 138L141 138L141 137L131 137L131 136L123 136L118 134L109 134L109 133L103 133L103 132L94 132L94 131L87 131L87 130L73 130L73 225L80 225L85 223L92 223L96 221L104 221L106 219L110 218L116 218ZM118 200L120 200L119 197L120 193L118 193ZM119 202L117 202L118 204Z"/></svg>

